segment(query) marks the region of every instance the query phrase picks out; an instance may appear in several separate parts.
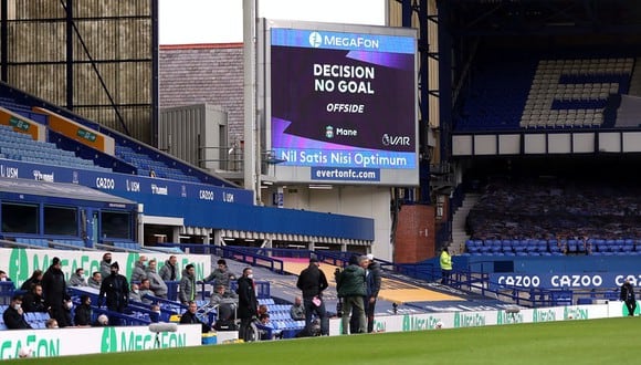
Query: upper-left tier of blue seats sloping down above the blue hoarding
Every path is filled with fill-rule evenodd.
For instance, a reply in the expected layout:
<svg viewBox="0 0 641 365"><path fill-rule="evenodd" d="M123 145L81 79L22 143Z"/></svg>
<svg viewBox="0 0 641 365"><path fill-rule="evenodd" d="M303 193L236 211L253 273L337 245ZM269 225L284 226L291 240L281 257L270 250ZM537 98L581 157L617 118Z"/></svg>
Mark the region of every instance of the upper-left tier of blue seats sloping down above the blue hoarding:
<svg viewBox="0 0 641 365"><path fill-rule="evenodd" d="M116 144L115 154L112 156L105 152L87 148L78 140L72 139L61 134L60 131L54 131L50 127L46 128L46 139L50 142L36 143L29 142L28 136L14 132L17 131L15 127L4 126L4 132L0 131L0 156L4 155L4 158L96 171L130 174L133 169L139 176L154 175L154 177L162 179L213 182L218 186L229 186L229 182L223 179L206 174L170 155L150 148L117 132L101 127L94 122L59 109L43 101L29 95L20 95L20 100L17 100L15 91L7 85L2 85L1 93L3 96L0 96L0 107L9 113L20 115L20 117L43 126L48 126L49 119L52 115L55 115L56 118L64 118L69 123L77 123L90 135L101 134L114 138ZM34 106L38 106L39 109L32 109ZM24 142L24 144L18 144L18 140ZM52 156L54 158L51 158ZM116 163L114 163L114 158L117 160Z"/></svg>

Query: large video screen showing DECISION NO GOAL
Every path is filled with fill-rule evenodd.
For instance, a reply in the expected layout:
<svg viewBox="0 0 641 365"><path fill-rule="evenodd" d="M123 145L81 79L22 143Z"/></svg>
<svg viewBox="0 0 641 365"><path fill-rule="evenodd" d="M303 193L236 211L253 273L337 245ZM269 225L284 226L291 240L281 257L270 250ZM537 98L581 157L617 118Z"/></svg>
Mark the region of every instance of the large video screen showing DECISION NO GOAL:
<svg viewBox="0 0 641 365"><path fill-rule="evenodd" d="M272 24L267 36L277 180L418 185L413 30Z"/></svg>

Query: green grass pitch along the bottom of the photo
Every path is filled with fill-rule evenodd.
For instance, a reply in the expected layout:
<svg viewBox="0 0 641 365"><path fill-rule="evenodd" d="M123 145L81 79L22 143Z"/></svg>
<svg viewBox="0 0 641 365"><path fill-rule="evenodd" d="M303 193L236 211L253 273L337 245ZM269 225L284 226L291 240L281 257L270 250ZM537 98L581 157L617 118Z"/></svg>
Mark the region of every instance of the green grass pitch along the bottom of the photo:
<svg viewBox="0 0 641 365"><path fill-rule="evenodd" d="M634 364L641 362L640 325L640 317L512 324L70 356L54 363ZM43 364L36 358L18 361Z"/></svg>

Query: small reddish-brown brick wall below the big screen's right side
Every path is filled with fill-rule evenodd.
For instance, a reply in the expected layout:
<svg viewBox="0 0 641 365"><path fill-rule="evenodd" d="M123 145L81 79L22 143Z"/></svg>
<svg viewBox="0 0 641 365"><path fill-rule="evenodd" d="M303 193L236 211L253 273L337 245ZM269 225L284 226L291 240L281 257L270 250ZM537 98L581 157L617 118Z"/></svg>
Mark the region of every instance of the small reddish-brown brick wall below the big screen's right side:
<svg viewBox="0 0 641 365"><path fill-rule="evenodd" d="M434 207L402 206L395 233L393 261L414 263L434 257Z"/></svg>

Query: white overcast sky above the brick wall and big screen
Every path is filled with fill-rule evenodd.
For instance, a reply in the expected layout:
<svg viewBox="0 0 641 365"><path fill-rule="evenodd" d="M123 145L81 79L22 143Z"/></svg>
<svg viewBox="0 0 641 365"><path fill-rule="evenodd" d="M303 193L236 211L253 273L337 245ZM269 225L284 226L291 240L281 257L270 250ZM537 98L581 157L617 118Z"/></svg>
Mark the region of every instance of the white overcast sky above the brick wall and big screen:
<svg viewBox="0 0 641 365"><path fill-rule="evenodd" d="M259 0L259 17L385 25L385 0ZM243 39L243 0L160 0L160 44Z"/></svg>

